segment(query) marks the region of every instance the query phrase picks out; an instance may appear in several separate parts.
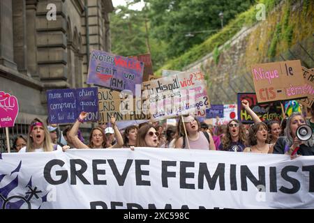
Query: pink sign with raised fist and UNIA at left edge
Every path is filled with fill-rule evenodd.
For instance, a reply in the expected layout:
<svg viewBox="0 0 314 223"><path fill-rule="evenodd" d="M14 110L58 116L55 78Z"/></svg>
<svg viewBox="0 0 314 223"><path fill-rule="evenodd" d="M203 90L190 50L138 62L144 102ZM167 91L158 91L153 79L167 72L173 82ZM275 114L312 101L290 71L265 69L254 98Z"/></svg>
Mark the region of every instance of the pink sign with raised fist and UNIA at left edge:
<svg viewBox="0 0 314 223"><path fill-rule="evenodd" d="M17 98L9 93L0 91L0 128L14 126L19 113Z"/></svg>

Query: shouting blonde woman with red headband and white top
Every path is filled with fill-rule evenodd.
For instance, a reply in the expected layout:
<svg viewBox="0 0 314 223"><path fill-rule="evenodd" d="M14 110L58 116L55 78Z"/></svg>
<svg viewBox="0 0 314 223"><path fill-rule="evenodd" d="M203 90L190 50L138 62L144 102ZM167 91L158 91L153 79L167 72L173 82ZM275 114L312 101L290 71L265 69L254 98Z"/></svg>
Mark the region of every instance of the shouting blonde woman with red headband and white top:
<svg viewBox="0 0 314 223"><path fill-rule="evenodd" d="M35 118L29 126L27 134L27 146L20 149L19 153L25 152L52 152L62 151L61 146L52 144L47 126L40 118Z"/></svg>

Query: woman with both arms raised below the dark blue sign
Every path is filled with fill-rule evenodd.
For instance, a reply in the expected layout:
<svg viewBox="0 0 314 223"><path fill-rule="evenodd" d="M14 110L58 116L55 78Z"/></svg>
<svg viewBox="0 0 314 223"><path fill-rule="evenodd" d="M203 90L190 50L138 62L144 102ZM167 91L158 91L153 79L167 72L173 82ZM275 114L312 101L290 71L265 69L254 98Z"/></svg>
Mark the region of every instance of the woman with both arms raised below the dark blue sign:
<svg viewBox="0 0 314 223"><path fill-rule="evenodd" d="M78 137L77 131L80 126L80 123L84 122L84 119L87 117L87 112L81 112L79 118L74 123L70 132L68 133L70 137L70 141L72 141L73 146L75 148L106 148L106 137L105 132L103 132L103 128L96 127L91 130L91 134L89 135L89 145L84 144ZM114 129L114 134L117 138L117 144L113 146L109 146L107 148L122 148L124 145L124 139L122 139L121 133L117 128L116 119L112 116L111 118L112 128Z"/></svg>

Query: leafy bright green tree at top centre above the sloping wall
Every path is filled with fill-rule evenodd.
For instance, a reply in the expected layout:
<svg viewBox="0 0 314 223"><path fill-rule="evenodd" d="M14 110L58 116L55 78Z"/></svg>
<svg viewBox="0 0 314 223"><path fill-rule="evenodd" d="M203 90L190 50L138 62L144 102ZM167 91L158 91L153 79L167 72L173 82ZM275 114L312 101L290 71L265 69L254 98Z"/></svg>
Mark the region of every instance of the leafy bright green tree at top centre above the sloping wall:
<svg viewBox="0 0 314 223"><path fill-rule="evenodd" d="M151 32L167 43L166 55L174 58L221 29L219 13L227 24L247 10L254 0L147 0ZM193 37L186 34L192 33Z"/></svg>

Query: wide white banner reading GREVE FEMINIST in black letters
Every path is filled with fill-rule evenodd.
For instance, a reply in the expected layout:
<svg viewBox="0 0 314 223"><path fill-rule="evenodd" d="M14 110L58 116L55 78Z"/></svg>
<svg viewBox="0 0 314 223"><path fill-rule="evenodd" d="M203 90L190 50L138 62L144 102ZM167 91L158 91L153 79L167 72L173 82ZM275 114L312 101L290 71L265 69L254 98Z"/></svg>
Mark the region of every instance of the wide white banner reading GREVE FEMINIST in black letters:
<svg viewBox="0 0 314 223"><path fill-rule="evenodd" d="M2 153L0 207L314 208L314 157L171 148Z"/></svg>

